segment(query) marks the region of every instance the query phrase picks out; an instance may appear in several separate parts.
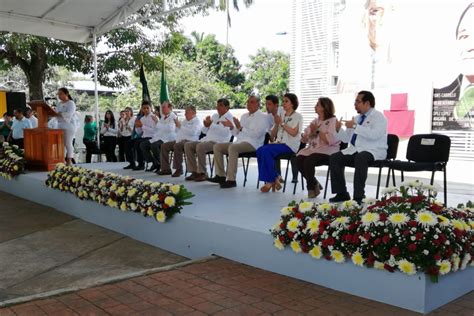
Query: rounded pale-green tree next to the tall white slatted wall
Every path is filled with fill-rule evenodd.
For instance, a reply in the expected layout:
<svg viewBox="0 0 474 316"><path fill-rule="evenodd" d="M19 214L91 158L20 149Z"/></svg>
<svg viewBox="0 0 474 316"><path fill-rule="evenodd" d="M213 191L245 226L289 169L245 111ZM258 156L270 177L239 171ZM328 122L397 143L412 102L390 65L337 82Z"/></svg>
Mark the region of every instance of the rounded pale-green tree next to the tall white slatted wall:
<svg viewBox="0 0 474 316"><path fill-rule="evenodd" d="M289 55L283 52L259 49L255 56L250 56L246 88L258 92L262 97L286 93L290 77L289 59Z"/></svg>

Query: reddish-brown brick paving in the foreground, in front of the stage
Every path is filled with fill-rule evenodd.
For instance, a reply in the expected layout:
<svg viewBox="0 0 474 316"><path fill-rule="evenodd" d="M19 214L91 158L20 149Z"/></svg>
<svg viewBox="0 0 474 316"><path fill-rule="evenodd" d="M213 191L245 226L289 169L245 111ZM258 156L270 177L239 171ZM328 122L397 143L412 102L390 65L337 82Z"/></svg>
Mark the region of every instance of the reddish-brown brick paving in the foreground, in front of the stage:
<svg viewBox="0 0 474 316"><path fill-rule="evenodd" d="M0 315L420 315L216 259L0 309ZM430 315L474 315L474 292Z"/></svg>

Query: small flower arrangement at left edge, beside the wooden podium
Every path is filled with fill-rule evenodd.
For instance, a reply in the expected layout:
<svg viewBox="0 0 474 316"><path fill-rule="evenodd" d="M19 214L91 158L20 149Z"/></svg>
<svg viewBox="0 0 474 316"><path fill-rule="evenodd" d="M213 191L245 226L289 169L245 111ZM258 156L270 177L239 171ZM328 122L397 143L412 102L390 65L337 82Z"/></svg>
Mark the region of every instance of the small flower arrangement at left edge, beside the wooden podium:
<svg viewBox="0 0 474 316"><path fill-rule="evenodd" d="M26 160L23 150L17 145L4 142L0 146L0 175L8 180L25 172Z"/></svg>

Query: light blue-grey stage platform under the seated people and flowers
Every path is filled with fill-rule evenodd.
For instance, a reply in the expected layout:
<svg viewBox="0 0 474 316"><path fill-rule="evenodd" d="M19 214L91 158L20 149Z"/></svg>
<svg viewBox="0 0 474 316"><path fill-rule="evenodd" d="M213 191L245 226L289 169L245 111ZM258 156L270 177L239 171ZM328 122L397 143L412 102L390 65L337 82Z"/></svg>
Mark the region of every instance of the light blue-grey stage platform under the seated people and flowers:
<svg viewBox="0 0 474 316"><path fill-rule="evenodd" d="M121 212L49 189L44 185L46 172L27 173L11 181L1 178L0 190L185 257L200 258L216 254L417 312L429 312L474 289L473 268L440 277L439 283L435 284L424 274L410 277L402 273L360 268L349 262L337 264L315 260L306 254L294 254L289 249L277 250L272 245L269 229L278 221L280 209L292 199L303 199L305 192L299 186L297 194L292 195L293 186L289 184L286 193L260 193L256 189L255 166L251 167L245 188L242 187L242 179L238 178L239 186L226 190L208 182L186 182L183 177L175 179L144 171L125 171L122 169L124 164L120 163L81 166L151 181L182 183L196 196L191 200L193 204L186 206L181 214L160 224L140 214ZM320 181L324 183L323 178ZM374 186L368 186L367 195L375 196ZM467 200L465 195L449 195L451 205ZM315 201L322 201L322 198Z"/></svg>

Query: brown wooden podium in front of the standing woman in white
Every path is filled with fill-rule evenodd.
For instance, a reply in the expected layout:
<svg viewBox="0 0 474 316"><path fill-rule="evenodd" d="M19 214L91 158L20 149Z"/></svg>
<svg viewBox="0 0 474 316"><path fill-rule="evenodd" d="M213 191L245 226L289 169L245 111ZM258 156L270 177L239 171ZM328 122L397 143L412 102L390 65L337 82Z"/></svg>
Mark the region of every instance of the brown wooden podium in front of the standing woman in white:
<svg viewBox="0 0 474 316"><path fill-rule="evenodd" d="M50 171L64 162L64 140L61 129L48 128L48 116L58 116L44 101L28 102L38 113L38 127L24 130L26 167L29 170Z"/></svg>

